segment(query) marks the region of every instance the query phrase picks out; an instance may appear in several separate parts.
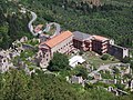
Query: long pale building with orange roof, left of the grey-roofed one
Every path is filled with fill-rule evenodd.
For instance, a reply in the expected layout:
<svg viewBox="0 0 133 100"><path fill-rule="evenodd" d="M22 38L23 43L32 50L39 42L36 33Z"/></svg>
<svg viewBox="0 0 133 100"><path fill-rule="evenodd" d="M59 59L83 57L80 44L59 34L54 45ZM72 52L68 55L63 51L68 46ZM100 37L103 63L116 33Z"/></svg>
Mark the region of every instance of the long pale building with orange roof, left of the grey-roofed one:
<svg viewBox="0 0 133 100"><path fill-rule="evenodd" d="M73 33L70 31L61 32L60 34L42 42L39 46L38 57L40 58L40 66L45 68L53 57L54 52L70 53L73 49Z"/></svg>

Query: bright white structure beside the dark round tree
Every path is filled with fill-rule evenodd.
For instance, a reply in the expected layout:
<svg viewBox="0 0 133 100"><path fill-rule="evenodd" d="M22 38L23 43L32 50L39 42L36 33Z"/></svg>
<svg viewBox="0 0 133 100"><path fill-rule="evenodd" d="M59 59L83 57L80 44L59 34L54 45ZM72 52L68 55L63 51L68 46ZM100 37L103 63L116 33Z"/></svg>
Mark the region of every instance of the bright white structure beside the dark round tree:
<svg viewBox="0 0 133 100"><path fill-rule="evenodd" d="M81 56L74 56L69 60L69 64L72 68L75 68L75 66L78 66L78 63L83 63L85 60L81 57Z"/></svg>

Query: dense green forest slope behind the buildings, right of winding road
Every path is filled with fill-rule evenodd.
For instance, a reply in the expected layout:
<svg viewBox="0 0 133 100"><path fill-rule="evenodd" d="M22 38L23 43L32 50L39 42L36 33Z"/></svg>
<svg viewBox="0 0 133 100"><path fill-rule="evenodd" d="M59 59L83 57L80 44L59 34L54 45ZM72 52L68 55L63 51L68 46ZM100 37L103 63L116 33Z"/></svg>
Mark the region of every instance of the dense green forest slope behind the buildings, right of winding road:
<svg viewBox="0 0 133 100"><path fill-rule="evenodd" d="M114 39L121 46L133 47L132 0L101 0L102 6L93 8L82 1L34 0L29 7L38 8L32 10L42 22L55 21L66 30L101 34Z"/></svg>

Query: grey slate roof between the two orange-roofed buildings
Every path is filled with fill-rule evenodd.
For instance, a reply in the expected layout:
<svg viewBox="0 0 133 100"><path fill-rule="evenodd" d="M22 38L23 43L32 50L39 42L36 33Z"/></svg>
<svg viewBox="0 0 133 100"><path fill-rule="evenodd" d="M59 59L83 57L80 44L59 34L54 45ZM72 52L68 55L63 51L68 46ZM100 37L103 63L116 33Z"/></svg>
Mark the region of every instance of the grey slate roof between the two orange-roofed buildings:
<svg viewBox="0 0 133 100"><path fill-rule="evenodd" d="M74 39L78 39L81 41L92 38L92 36L90 36L88 33L80 32L80 31L74 31L73 36L74 36Z"/></svg>

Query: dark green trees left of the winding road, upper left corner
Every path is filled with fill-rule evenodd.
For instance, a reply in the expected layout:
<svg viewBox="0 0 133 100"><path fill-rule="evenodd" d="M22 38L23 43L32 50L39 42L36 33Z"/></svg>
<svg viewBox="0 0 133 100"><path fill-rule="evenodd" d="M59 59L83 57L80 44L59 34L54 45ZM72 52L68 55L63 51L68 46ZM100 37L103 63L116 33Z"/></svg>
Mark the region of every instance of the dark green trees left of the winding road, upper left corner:
<svg viewBox="0 0 133 100"><path fill-rule="evenodd" d="M28 30L29 16L20 13L16 2L0 0L0 48L8 49L23 36L32 38Z"/></svg>

